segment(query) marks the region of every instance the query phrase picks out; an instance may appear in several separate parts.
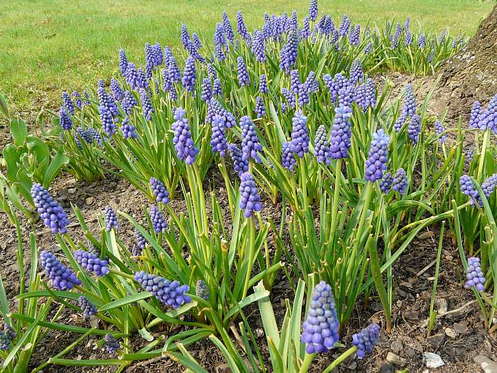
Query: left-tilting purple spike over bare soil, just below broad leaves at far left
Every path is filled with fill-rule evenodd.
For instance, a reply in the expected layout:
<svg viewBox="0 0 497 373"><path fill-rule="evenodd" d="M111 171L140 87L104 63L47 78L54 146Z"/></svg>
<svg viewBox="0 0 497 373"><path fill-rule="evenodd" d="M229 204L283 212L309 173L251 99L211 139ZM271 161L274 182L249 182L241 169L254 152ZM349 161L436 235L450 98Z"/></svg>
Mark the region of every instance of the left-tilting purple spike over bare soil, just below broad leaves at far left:
<svg viewBox="0 0 497 373"><path fill-rule="evenodd" d="M43 219L43 224L51 228L53 234L67 233L66 226L69 224L67 214L47 190L41 184L33 184L31 196L40 218Z"/></svg>

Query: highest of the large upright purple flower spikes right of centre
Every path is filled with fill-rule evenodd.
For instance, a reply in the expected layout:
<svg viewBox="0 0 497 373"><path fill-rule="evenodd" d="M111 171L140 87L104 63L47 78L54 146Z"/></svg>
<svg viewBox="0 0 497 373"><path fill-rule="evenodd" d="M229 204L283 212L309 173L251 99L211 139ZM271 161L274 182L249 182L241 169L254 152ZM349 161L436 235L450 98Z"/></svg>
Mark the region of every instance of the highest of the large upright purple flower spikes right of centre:
<svg viewBox="0 0 497 373"><path fill-rule="evenodd" d="M330 139L330 153L333 159L348 157L348 149L351 145L350 117L352 117L352 109L349 106L340 104L338 108L335 108Z"/></svg>

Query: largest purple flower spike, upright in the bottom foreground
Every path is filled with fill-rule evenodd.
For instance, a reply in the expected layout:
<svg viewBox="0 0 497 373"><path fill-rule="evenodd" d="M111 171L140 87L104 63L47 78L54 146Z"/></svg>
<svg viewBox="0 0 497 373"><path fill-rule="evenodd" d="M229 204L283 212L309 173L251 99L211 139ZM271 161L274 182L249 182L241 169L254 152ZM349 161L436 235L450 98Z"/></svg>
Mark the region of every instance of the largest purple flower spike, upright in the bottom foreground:
<svg viewBox="0 0 497 373"><path fill-rule="evenodd" d="M328 352L339 339L339 321L330 285L321 281L313 290L311 306L303 325L302 342L306 352Z"/></svg>

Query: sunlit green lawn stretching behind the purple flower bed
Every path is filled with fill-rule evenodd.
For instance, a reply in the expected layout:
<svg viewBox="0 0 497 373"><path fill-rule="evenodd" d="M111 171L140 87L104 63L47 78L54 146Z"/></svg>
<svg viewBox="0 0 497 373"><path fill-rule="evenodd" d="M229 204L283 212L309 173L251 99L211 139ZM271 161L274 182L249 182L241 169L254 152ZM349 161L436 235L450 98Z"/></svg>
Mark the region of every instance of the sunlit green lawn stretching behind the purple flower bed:
<svg viewBox="0 0 497 373"><path fill-rule="evenodd" d="M474 33L494 1L476 0L321 0L319 12L335 24L343 14L352 23L384 23L411 17L411 27L451 34ZM263 13L295 9L299 22L308 10L301 0L4 0L0 7L0 91L14 110L36 113L58 105L60 91L82 90L117 71L117 51L143 61L146 42L159 41L180 51L184 22L202 42L212 43L215 23L227 10L235 23L242 10L250 30L260 27Z"/></svg>

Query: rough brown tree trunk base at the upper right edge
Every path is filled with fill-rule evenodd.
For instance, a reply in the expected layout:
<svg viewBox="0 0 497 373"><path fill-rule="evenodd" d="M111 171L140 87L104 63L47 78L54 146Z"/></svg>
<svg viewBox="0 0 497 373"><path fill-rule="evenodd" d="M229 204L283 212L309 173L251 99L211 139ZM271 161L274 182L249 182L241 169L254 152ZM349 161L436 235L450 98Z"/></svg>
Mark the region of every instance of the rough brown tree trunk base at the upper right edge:
<svg viewBox="0 0 497 373"><path fill-rule="evenodd" d="M497 93L497 5L468 46L445 62L440 89L448 95L449 116L469 117L473 101L486 104Z"/></svg>

